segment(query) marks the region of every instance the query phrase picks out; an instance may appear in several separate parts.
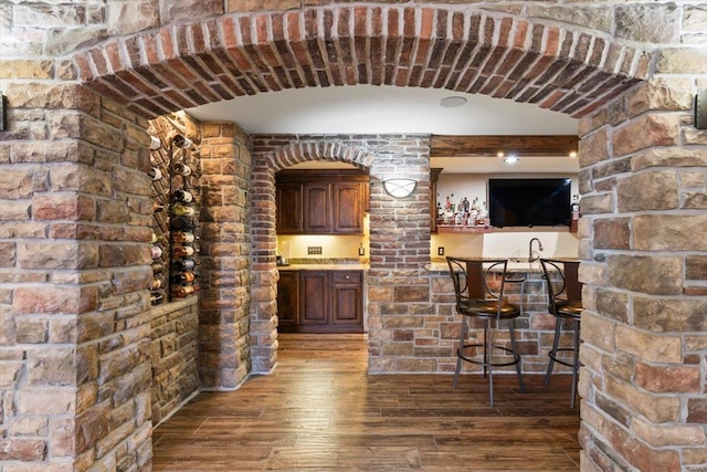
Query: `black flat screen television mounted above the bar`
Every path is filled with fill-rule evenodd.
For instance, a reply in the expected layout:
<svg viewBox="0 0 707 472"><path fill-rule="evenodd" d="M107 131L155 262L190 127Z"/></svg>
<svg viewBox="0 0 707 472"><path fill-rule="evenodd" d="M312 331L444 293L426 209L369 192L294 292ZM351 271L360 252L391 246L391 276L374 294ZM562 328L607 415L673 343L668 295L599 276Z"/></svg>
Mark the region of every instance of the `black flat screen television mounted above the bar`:
<svg viewBox="0 0 707 472"><path fill-rule="evenodd" d="M568 178L488 179L492 227L570 225Z"/></svg>

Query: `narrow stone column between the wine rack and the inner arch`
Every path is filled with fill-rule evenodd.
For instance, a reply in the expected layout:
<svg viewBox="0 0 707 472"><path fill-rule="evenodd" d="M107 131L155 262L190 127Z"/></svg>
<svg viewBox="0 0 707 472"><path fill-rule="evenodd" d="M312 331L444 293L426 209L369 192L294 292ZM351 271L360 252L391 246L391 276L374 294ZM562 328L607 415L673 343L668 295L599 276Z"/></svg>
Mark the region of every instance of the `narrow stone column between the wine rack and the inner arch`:
<svg viewBox="0 0 707 472"><path fill-rule="evenodd" d="M249 139L233 124L202 126L199 370L204 389L233 389L251 370Z"/></svg>

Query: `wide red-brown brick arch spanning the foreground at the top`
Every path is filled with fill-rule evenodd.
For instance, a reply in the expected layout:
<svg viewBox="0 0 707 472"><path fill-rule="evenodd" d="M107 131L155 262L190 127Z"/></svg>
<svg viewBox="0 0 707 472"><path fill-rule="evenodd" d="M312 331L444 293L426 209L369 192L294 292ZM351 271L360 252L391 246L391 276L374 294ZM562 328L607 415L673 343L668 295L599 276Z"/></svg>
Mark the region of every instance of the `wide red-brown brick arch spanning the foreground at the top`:
<svg viewBox="0 0 707 472"><path fill-rule="evenodd" d="M284 88L394 85L482 93L574 117L648 75L605 33L465 7L357 6L165 25L74 56L82 82L152 118Z"/></svg>

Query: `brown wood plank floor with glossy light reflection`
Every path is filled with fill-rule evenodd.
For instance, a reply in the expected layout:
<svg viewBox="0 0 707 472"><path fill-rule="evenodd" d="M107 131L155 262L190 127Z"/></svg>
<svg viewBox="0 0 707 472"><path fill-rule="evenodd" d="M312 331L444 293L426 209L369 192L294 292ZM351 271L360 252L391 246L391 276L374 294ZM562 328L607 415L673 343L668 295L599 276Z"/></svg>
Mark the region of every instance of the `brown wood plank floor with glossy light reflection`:
<svg viewBox="0 0 707 472"><path fill-rule="evenodd" d="M273 375L154 432L156 471L577 471L570 376L369 376L365 335L281 335Z"/></svg>

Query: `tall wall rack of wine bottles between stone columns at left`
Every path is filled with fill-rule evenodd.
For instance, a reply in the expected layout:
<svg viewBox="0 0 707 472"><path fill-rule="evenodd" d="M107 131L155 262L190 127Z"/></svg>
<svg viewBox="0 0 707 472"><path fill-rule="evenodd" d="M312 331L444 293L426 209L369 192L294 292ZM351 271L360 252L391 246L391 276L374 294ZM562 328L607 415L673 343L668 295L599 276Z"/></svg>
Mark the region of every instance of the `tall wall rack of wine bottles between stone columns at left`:
<svg viewBox="0 0 707 472"><path fill-rule="evenodd" d="M150 159L155 209L150 302L159 305L199 291L199 149L179 134L171 135L167 146L152 136Z"/></svg>

